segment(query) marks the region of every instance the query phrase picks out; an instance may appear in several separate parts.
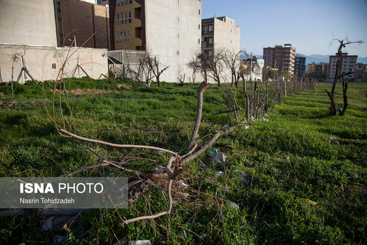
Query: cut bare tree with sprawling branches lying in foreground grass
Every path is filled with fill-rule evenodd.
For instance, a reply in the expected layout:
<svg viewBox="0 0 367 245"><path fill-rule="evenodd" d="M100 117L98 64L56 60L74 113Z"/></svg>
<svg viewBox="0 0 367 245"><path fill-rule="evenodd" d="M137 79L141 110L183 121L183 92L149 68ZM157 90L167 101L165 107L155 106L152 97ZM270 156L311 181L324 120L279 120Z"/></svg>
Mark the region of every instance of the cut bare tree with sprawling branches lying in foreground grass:
<svg viewBox="0 0 367 245"><path fill-rule="evenodd" d="M57 80L56 80L57 81ZM59 80L61 82L61 80ZM121 144L116 144L116 143L109 143L109 142L105 142L105 141L99 141L99 140L94 140L91 138L85 138L82 136L78 136L78 134L76 133L72 133L71 129L74 128L73 127L73 118L72 118L72 112L71 112L71 118L66 119L66 116L64 114L61 114L61 118L56 119L55 116L55 109L56 107L52 107L52 112L53 112L53 121L54 121L54 126L56 126L56 130L58 131L58 133L61 136L64 137L72 137L72 138L76 138L80 141L85 141L85 142L90 142L90 143L98 143L98 144L102 144L102 145L109 145L111 147L115 147L115 148L140 148L140 149L152 149L152 150L162 150L165 153L169 153L172 156L169 157L169 160L167 161L167 164L164 167L164 173L165 173L165 181L167 182L167 196L168 196L168 207L167 210L164 210L160 213L157 213L155 215L143 215L140 217L135 217L129 220L122 220L123 222L122 225L128 225L131 222L136 222L139 220L152 220L155 219L157 217L160 217L162 215L169 215L172 212L172 206L173 206L173 201L172 201L172 184L174 183L174 180L179 177L181 174L183 174L183 172L186 172L186 170L188 168L191 167L191 162L192 160L195 160L195 158L199 157L200 155L202 155L206 150L208 150L210 147L212 147L212 145L217 141L217 139L222 136L223 134L226 133L230 133L231 131L234 131L234 129L236 129L238 126L246 124L246 119L242 119L241 121L237 122L236 124L234 124L233 126L229 126L226 127L220 131L216 131L214 133L214 135L212 136L212 138L207 141L206 143L203 143L203 145L201 145L200 148L198 148L199 150L196 150L196 148L198 147L198 143L196 143L196 139L198 138L198 131L200 129L200 122L201 122L201 114L203 111L203 95L204 92L210 88L210 85L208 85L207 83L203 82L200 84L200 86L198 87L198 104L197 104L197 111L196 111L196 119L195 119L195 124L193 126L193 133L190 139L190 142L188 143L188 147L186 148L186 153L184 155L179 155L178 152L174 152L172 150L167 150L164 148L157 148L155 146L150 146L150 145L121 145ZM54 99L56 97L56 86L54 89ZM59 104L59 109L62 110L62 104ZM68 107L69 110L71 110L70 107ZM75 129L75 128L74 128ZM117 169L121 169L122 171L126 171L126 172L131 172L133 174L138 175L138 179L140 179L140 182L142 182L142 179L147 179L145 174L142 174L139 170L132 170L132 169L128 169L128 167L125 167L125 165L122 165L121 162L114 162L112 160L107 159L107 157L103 157L102 155L99 155L98 153L95 153L94 150L91 150L90 148L87 148L86 150L91 151L92 153L94 153L95 155L97 155L100 160L102 160L102 164L100 165L93 165L90 168L97 168L97 167L103 167L103 166L107 166L109 165L110 167L116 167ZM196 150L196 151L195 151ZM83 169L78 169L70 174L66 174L67 176L72 175L72 174L76 174L78 172L83 172L85 171L86 168ZM143 181L143 184L145 184L146 182Z"/></svg>

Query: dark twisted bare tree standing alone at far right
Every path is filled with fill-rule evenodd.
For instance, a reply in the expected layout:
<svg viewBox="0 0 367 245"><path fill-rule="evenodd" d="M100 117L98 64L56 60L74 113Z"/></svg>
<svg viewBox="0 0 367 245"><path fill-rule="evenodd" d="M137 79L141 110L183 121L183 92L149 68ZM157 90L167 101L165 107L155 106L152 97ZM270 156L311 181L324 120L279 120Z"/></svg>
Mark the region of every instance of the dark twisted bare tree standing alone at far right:
<svg viewBox="0 0 367 245"><path fill-rule="evenodd" d="M345 78L345 76L348 76L349 74L353 73L353 69L350 69L348 72L342 72L342 49L347 47L347 45L362 44L363 41L362 40L349 41L349 39L347 37L345 37L343 40L339 40L339 39L332 40L332 42L335 42L335 41L339 42L339 47L337 49L337 64L336 64L336 69L335 69L335 76L334 76L334 80L332 82L331 92L328 91L328 90L325 90L325 92L327 93L327 95L330 98L330 107L329 107L330 114L332 116L336 116L336 114L337 114L337 104L335 102L335 87L337 85L337 82L339 80L342 80L344 106L343 106L342 111L339 112L339 114L342 116L342 115L344 115L344 113L345 113L345 111L347 110L347 107L348 107L348 98L347 98L348 81ZM330 44L332 44L332 42Z"/></svg>

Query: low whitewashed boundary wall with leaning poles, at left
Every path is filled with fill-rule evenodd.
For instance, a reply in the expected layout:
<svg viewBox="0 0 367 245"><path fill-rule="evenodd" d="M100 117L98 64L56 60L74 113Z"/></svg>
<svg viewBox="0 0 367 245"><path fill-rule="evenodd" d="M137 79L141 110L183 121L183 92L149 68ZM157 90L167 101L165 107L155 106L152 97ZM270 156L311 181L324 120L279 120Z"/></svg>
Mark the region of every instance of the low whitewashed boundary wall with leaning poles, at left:
<svg viewBox="0 0 367 245"><path fill-rule="evenodd" d="M1 1L1 0L0 0ZM70 54L77 48L70 49ZM13 61L9 58L11 54L23 54L25 65L30 75L35 80L55 80L60 68L68 55L68 47L44 47L0 44L0 67L3 82L11 80L11 66ZM14 64L13 80L18 78L21 68L20 63ZM52 68L56 64L56 68ZM107 49L80 48L66 63L64 77L83 77L85 73L79 68L79 64L91 78L100 78L101 73L108 76ZM74 73L75 71L75 73ZM27 76L28 77L28 76ZM20 83L30 80L22 76Z"/></svg>

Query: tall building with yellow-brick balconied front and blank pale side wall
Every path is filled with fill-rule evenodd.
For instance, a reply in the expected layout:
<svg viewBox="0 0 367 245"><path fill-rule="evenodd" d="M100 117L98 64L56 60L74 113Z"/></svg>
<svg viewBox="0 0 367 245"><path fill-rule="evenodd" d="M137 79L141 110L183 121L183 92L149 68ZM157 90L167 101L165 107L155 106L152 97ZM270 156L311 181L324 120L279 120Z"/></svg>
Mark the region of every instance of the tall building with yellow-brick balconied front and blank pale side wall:
<svg viewBox="0 0 367 245"><path fill-rule="evenodd" d="M187 66L200 52L200 0L109 0L113 50L146 50L157 56L162 80L192 74Z"/></svg>

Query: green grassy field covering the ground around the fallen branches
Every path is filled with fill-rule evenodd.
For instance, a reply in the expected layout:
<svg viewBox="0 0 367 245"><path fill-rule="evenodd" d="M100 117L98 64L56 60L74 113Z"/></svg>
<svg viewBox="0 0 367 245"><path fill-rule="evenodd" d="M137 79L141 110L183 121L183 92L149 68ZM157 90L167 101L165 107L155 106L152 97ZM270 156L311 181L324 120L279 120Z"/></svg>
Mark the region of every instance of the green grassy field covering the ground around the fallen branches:
<svg viewBox="0 0 367 245"><path fill-rule="evenodd" d="M198 85L142 88L119 80L68 80L80 136L112 143L155 145L183 154L191 136ZM340 86L340 85L338 85ZM224 89L225 86L222 86ZM174 210L169 217L121 227L120 217L136 217L167 208L162 189L150 188L128 209L83 213L88 231L78 238L68 231L71 244L113 244L150 239L154 244L363 244L367 231L367 83L349 84L345 116L329 116L325 89L284 98L270 112L269 121L250 121L219 138L215 146L227 155L224 165L210 162L208 150L183 174L190 185L179 191L175 183ZM134 163L152 172L169 155L152 150L108 148L83 144L56 133L48 112L51 86L35 83L0 87L0 177L56 177L88 165L97 157L88 146L115 160ZM337 102L342 102L337 87ZM242 88L237 102L243 107ZM204 95L200 140L227 124L221 90L212 85ZM340 104L341 105L341 104ZM65 111L64 113L67 114ZM155 162L152 162L155 161ZM148 164L147 164L148 162ZM155 163L155 164L152 164ZM78 176L104 176L114 169L97 169ZM222 172L219 173L219 172ZM243 179L241 172L248 177ZM180 193L188 193L183 196ZM147 208L145 198L154 203ZM50 243L55 234L40 229L32 216L28 229L12 238L20 217L0 218L0 243Z"/></svg>

